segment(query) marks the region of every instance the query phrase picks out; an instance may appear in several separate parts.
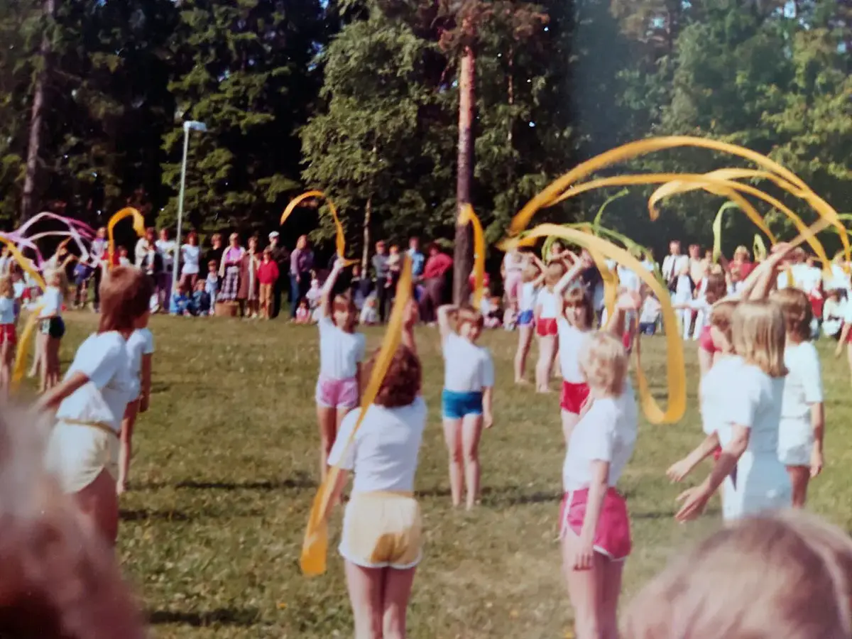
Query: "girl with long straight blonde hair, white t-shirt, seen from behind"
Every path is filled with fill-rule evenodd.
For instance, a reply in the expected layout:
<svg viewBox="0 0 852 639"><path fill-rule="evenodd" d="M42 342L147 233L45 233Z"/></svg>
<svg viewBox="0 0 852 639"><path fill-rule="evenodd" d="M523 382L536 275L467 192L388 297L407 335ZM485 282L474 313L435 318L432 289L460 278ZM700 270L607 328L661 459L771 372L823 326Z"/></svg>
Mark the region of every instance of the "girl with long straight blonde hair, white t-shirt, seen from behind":
<svg viewBox="0 0 852 639"><path fill-rule="evenodd" d="M713 492L736 469L736 485L724 484L726 521L792 504L790 477L778 458L778 433L787 369L780 308L765 300L734 309L735 374L720 381L726 398L717 406L722 454L709 477L678 498L678 521L699 516ZM714 366L715 368L715 366Z"/></svg>

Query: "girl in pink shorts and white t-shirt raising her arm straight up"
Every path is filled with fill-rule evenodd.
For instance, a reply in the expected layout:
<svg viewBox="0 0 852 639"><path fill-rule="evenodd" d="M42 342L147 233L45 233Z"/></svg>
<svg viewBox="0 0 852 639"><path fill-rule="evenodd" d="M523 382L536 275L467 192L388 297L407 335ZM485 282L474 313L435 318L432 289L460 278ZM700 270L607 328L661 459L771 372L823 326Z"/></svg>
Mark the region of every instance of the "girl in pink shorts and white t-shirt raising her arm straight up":
<svg viewBox="0 0 852 639"><path fill-rule="evenodd" d="M325 460L337 439L343 417L361 400L361 360L366 343L355 332L358 309L348 295L336 295L337 276L345 268L343 260L334 262L320 291L317 308L320 327L320 377L317 379L317 420L320 423L320 474L325 479Z"/></svg>

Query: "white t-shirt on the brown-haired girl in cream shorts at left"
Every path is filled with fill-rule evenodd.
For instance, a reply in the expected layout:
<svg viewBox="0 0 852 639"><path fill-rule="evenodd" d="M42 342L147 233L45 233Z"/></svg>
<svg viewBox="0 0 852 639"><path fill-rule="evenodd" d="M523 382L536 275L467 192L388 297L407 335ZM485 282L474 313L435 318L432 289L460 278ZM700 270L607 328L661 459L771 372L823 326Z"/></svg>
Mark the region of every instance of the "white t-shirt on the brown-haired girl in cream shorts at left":
<svg viewBox="0 0 852 639"><path fill-rule="evenodd" d="M124 337L114 331L90 335L77 349L66 379L77 372L89 377L89 383L62 401L57 419L104 423L121 432L124 409L139 394Z"/></svg>

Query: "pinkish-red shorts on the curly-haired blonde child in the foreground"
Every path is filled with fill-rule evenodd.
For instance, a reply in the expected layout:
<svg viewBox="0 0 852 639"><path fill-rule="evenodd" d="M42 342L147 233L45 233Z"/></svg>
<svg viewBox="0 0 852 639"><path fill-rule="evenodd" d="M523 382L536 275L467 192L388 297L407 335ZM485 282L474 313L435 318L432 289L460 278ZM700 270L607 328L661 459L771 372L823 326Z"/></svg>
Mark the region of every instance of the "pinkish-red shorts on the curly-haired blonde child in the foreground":
<svg viewBox="0 0 852 639"><path fill-rule="evenodd" d="M570 503L568 500L571 500ZM559 537L570 530L579 537L583 532L586 503L589 489L566 492L559 510ZM610 487L603 498L601 519L595 531L595 551L613 561L625 561L630 556L630 515L627 514L627 502L621 494Z"/></svg>

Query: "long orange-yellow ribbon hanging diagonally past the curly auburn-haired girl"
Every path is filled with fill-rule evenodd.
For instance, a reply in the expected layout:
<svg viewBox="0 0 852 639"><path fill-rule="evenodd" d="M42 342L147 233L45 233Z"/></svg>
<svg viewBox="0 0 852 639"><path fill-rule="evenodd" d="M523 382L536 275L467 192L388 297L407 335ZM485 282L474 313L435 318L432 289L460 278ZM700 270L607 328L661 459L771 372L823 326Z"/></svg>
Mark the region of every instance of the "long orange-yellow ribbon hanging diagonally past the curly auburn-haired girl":
<svg viewBox="0 0 852 639"><path fill-rule="evenodd" d="M354 441L355 433L358 432L361 423L364 422L367 409L376 400L376 395L382 387L384 376L388 372L390 363L394 359L394 354L396 354L396 349L400 345L406 307L412 298L412 261L407 255L404 259L405 262L403 262L400 281L396 286L396 301L394 302L394 308L391 311L390 320L388 321L388 330L384 334L382 348L377 354L370 380L367 382L366 389L361 398L360 415L354 429L352 429L352 434L349 435L346 448L341 455L342 459L346 458L348 449ZM314 497L314 505L308 517L308 528L305 531L305 539L302 544L302 558L300 563L302 573L309 576L325 573L325 564L328 555L328 521L325 518L325 513L328 509L332 488L337 484L337 476L340 475L340 471L339 464L329 469L328 475L325 476L325 481L322 482L316 497Z"/></svg>

